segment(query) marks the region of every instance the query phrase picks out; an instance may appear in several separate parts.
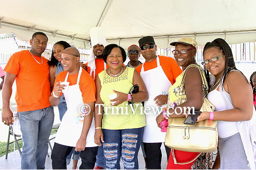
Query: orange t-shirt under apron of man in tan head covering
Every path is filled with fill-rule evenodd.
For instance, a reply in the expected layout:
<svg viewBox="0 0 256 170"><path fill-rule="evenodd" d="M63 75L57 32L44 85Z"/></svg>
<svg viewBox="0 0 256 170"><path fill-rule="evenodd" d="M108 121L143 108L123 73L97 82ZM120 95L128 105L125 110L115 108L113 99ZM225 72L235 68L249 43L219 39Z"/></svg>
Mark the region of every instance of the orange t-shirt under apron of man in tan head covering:
<svg viewBox="0 0 256 170"><path fill-rule="evenodd" d="M54 85L56 82L63 82L65 81L65 78L68 74L68 71L61 71L54 82ZM68 77L68 82L69 85L75 85L77 82L77 77L78 77L78 72L75 75L70 75ZM95 87L95 82L93 80L93 78L88 74L88 72L84 69L82 69L82 73L81 73L81 77L80 77L80 81L79 81L79 88L80 91L82 92L82 100L83 103L90 103L90 102L95 102L95 94L96 94L96 87ZM62 95L62 93L60 93L59 95ZM76 95L76 94L74 94Z"/></svg>

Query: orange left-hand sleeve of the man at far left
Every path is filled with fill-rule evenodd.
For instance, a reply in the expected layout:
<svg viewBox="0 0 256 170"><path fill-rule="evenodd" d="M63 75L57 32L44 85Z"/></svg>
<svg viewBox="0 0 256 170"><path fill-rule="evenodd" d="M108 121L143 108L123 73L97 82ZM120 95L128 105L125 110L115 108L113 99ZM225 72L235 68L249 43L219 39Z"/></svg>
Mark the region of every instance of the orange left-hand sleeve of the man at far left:
<svg viewBox="0 0 256 170"><path fill-rule="evenodd" d="M14 53L7 62L4 71L17 75L20 68L20 53Z"/></svg>

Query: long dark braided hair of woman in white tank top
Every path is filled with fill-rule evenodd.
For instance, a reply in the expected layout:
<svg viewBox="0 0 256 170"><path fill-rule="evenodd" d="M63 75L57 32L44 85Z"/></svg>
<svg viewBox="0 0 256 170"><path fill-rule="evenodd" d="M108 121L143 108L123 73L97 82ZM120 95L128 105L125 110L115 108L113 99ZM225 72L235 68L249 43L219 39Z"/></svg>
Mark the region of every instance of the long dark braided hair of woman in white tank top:
<svg viewBox="0 0 256 170"><path fill-rule="evenodd" d="M207 42L204 45L204 50L203 50L203 54L204 52L211 48L211 47L216 47L218 48L225 56L225 68L224 68L224 75L223 75L223 82L225 81L225 78L227 76L227 74L231 71L231 70L238 70L236 68L236 64L234 63L234 58L233 58L233 54L232 54L232 50L230 48L230 46L228 45L228 43L222 39L222 38L217 38L212 42ZM205 75L206 75L206 80L208 82L209 85L209 71L206 70L206 67L204 66L204 71L205 71ZM241 72L241 71L240 71ZM243 73L242 73L243 74Z"/></svg>

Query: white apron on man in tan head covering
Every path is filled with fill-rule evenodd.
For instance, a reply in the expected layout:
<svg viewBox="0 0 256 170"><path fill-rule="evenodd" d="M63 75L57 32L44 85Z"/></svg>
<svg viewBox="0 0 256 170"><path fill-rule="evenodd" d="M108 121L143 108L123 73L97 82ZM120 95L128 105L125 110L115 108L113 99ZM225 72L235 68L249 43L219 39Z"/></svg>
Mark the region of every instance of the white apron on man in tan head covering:
<svg viewBox="0 0 256 170"><path fill-rule="evenodd" d="M69 147L76 147L76 142L80 138L83 126L84 115L80 112L80 107L83 105L82 92L79 88L79 80L82 73L82 69L79 69L77 83L69 86L68 92L64 93L68 110L64 114L59 129L56 134L55 142L66 145ZM69 72L65 78L65 82L68 80ZM87 135L86 147L97 147L94 143L94 118L92 125Z"/></svg>

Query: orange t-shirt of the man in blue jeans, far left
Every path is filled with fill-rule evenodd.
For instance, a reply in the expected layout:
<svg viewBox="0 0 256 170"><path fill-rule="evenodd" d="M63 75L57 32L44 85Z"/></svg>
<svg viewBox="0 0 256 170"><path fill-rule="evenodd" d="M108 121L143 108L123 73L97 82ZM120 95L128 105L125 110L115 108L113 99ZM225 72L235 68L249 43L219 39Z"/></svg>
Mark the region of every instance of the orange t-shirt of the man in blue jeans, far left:
<svg viewBox="0 0 256 170"><path fill-rule="evenodd" d="M41 58L34 56L41 63ZM50 106L51 95L48 60L42 57L43 63L38 64L28 50L14 53L5 71L16 75L17 111L31 111Z"/></svg>

